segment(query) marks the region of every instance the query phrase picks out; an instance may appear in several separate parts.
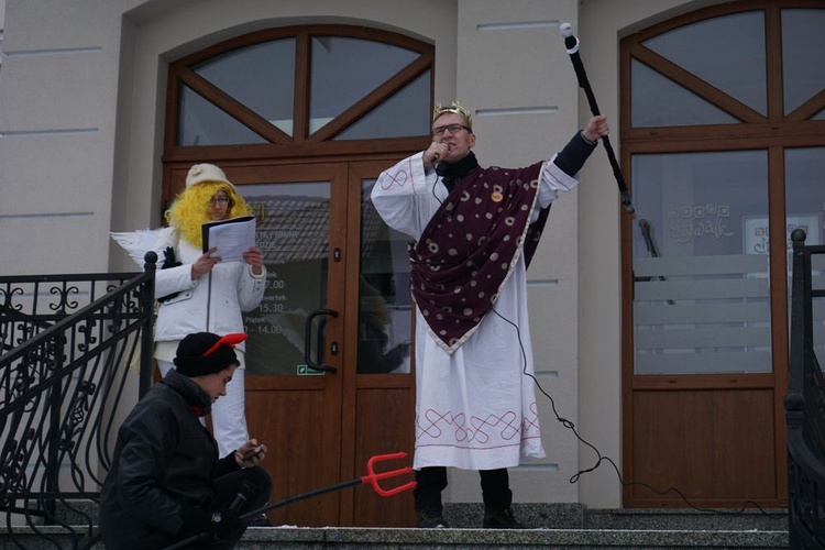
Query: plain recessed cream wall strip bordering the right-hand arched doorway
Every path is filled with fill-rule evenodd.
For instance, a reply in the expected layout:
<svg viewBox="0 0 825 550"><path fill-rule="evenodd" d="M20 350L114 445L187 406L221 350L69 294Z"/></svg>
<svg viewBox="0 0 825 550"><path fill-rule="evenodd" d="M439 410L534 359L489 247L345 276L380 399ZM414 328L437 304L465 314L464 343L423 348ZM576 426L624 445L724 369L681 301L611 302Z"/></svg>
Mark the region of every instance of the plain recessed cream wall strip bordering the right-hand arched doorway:
<svg viewBox="0 0 825 550"><path fill-rule="evenodd" d="M719 3L706 0L582 0L580 55L600 111L610 123L610 144L620 158L618 43L644 26ZM580 94L580 124L590 107ZM604 147L583 169L579 218L579 433L622 470L622 294L618 186ZM597 457L579 447L582 468ZM593 508L622 503L616 472L603 462L579 482L580 502Z"/></svg>

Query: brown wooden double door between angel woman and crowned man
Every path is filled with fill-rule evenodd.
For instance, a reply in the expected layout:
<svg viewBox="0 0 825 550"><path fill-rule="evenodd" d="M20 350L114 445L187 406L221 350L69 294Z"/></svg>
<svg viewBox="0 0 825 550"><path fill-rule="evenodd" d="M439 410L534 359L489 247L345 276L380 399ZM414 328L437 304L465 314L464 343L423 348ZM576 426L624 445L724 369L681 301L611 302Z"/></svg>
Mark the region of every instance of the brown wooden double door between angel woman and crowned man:
<svg viewBox="0 0 825 550"><path fill-rule="evenodd" d="M359 350L366 355L371 341L362 330L370 308L362 307L361 297L385 296L366 293L361 273L362 265L380 268L371 251L386 249L376 245L386 234L376 217L369 217L370 234L362 234L364 195L369 204L362 187L382 169L378 164L386 163L226 167L255 208L268 270L265 297L245 316L245 381L250 435L270 450L265 465L275 480L273 503L360 479L375 454L408 453L380 463L378 471L411 464L410 369L389 375L372 372L363 361L359 366ZM409 308L394 319L405 315L410 318ZM405 330L408 341L408 322ZM389 340L382 340L383 349ZM410 480L406 474L382 485ZM268 516L274 525L409 526L411 494L380 497L370 485L358 485L290 502Z"/></svg>

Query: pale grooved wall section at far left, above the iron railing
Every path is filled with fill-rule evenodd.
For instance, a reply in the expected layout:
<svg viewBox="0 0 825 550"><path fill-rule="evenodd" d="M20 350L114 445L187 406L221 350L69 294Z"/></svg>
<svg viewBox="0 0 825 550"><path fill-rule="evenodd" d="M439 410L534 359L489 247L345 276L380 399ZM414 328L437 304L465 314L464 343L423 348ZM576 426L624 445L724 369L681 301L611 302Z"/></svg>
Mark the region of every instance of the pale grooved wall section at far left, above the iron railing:
<svg viewBox="0 0 825 550"><path fill-rule="evenodd" d="M6 2L0 272L107 271L120 4Z"/></svg>

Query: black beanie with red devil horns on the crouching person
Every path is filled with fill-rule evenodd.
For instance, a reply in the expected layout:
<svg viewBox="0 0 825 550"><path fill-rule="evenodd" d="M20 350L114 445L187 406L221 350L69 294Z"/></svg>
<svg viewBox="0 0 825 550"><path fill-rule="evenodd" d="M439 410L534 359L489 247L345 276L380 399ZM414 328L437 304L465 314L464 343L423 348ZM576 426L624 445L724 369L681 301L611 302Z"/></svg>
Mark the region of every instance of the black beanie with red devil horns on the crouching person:
<svg viewBox="0 0 825 550"><path fill-rule="evenodd" d="M246 338L245 332L222 337L211 332L187 334L177 346L176 371L193 377L219 373L232 364L238 366L240 363L233 348Z"/></svg>

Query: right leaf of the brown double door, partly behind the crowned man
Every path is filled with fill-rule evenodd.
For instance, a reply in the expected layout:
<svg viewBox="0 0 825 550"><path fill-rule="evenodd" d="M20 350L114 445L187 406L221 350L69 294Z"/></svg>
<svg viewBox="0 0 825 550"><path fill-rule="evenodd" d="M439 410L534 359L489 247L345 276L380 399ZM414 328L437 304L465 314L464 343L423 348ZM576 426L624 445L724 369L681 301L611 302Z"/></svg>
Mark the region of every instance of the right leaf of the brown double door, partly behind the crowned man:
<svg viewBox="0 0 825 550"><path fill-rule="evenodd" d="M415 371L414 312L409 293L408 238L391 230L372 207L370 193L386 162L349 166L348 308L343 387L343 460L349 475L364 473L376 454L406 452L383 470L413 464ZM409 482L413 475L387 483ZM411 492L381 497L366 486L341 495L341 525L413 527Z"/></svg>

